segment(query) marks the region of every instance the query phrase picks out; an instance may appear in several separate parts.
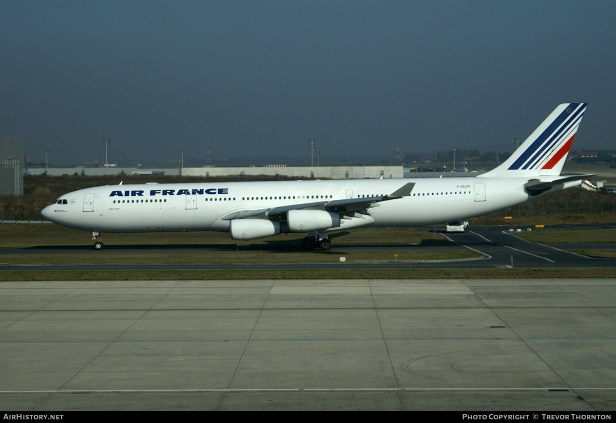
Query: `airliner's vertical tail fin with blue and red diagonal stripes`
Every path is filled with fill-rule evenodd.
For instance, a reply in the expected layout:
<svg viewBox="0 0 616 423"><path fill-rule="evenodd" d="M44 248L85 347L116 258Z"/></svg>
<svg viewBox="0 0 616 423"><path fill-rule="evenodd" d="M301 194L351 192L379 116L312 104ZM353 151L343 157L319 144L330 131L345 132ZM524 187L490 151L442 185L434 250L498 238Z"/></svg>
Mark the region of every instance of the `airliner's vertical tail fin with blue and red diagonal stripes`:
<svg viewBox="0 0 616 423"><path fill-rule="evenodd" d="M585 110L586 103L559 105L511 157L484 175L560 175Z"/></svg>

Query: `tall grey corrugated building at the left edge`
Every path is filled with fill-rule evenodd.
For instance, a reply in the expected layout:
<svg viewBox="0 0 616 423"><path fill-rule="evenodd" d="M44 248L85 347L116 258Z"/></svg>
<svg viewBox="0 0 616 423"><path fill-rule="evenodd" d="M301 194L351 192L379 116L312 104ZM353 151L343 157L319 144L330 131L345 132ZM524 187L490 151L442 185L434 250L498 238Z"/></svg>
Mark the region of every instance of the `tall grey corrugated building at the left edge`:
<svg viewBox="0 0 616 423"><path fill-rule="evenodd" d="M23 138L0 138L0 195L23 195Z"/></svg>

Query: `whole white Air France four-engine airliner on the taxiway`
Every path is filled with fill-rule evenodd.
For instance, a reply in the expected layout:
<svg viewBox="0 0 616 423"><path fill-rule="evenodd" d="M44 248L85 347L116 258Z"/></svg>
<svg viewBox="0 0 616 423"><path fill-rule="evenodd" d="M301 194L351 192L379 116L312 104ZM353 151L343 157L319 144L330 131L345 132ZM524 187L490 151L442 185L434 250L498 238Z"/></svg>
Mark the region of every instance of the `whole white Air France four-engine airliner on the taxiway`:
<svg viewBox="0 0 616 423"><path fill-rule="evenodd" d="M579 186L562 175L585 103L561 104L503 164L476 177L344 179L100 186L62 195L42 211L69 228L101 232L230 232L249 240L304 232L306 249L330 231L459 222Z"/></svg>

